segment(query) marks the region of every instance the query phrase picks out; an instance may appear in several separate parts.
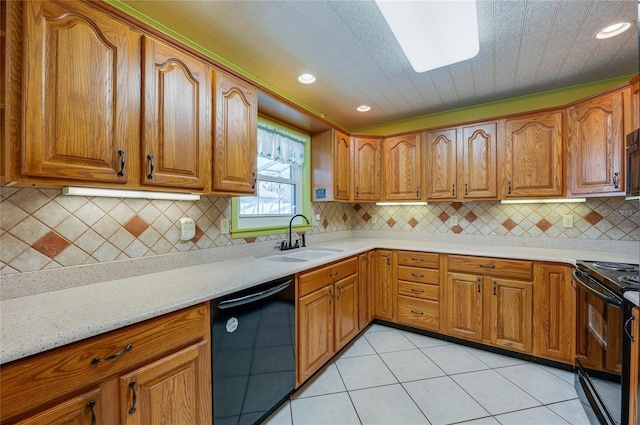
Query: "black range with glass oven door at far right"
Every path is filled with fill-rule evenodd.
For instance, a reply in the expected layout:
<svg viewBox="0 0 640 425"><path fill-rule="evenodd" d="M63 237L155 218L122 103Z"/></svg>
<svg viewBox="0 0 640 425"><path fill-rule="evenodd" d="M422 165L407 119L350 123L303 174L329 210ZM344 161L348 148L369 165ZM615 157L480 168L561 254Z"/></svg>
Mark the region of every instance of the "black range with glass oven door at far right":
<svg viewBox="0 0 640 425"><path fill-rule="evenodd" d="M592 424L628 425L622 413L623 294L637 291L638 265L578 261L575 388Z"/></svg>

